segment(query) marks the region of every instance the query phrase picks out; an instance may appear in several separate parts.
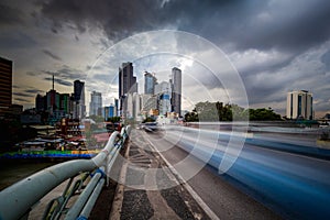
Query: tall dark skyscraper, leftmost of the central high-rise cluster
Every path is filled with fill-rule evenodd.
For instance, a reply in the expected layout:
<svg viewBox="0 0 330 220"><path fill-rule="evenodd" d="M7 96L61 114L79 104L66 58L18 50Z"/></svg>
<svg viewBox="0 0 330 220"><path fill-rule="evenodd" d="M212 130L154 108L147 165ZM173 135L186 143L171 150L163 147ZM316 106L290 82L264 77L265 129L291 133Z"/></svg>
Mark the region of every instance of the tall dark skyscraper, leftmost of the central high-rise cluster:
<svg viewBox="0 0 330 220"><path fill-rule="evenodd" d="M138 92L136 77L133 76L133 64L123 63L122 67L119 68L119 99L122 116L127 113L128 94L133 92Z"/></svg>

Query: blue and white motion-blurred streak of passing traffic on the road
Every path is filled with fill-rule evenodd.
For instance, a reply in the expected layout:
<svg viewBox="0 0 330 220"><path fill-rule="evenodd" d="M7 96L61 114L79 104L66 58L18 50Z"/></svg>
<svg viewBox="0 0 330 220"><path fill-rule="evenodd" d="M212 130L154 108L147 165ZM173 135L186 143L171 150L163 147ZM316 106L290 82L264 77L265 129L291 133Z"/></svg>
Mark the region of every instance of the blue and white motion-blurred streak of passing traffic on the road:
<svg viewBox="0 0 330 220"><path fill-rule="evenodd" d="M234 161L226 175L234 179L233 183L238 182L237 186L242 190L285 217L330 217L330 162L318 158L329 158L330 151L300 146L299 141L293 140L288 143L286 140L248 138L238 154L231 150L243 134L174 127L165 133L164 140L217 169L223 160Z"/></svg>

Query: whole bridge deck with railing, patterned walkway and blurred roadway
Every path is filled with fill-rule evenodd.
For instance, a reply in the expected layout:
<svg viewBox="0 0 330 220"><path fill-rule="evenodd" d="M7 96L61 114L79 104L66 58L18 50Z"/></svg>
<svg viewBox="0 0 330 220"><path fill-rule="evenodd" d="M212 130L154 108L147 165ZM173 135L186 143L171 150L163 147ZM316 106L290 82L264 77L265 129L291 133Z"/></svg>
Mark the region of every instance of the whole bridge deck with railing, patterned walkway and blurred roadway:
<svg viewBox="0 0 330 220"><path fill-rule="evenodd" d="M106 207L102 219L328 219L330 151L316 146L312 131L264 132L123 128L92 160L57 164L2 190L0 219L33 211L98 219ZM64 193L38 210L66 179ZM111 179L112 202L97 202Z"/></svg>

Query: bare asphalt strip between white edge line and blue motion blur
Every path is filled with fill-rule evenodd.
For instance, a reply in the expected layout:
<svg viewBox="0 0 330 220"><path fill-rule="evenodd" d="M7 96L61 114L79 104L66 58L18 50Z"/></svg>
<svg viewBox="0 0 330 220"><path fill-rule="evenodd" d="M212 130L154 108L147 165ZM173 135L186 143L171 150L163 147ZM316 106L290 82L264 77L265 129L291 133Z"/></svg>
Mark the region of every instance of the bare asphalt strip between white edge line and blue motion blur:
<svg viewBox="0 0 330 220"><path fill-rule="evenodd" d="M173 146L161 133L142 131L141 135L161 151L169 164L175 166L185 161L175 169L184 178L189 178L188 185L219 219L280 219L278 215L223 180L211 166L205 166L205 163L196 157L189 157L183 148Z"/></svg>

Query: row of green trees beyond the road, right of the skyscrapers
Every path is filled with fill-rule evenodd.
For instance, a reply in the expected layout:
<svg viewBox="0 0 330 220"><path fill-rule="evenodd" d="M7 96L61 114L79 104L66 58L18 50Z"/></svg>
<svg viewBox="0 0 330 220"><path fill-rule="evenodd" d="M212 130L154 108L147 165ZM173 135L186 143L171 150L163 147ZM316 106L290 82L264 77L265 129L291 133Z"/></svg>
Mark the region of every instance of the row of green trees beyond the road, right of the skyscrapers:
<svg viewBox="0 0 330 220"><path fill-rule="evenodd" d="M246 120L280 120L280 116L272 108L244 109L238 105L223 102L198 102L191 112L185 114L186 122L193 121L246 121Z"/></svg>

